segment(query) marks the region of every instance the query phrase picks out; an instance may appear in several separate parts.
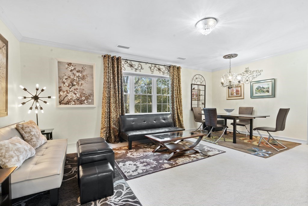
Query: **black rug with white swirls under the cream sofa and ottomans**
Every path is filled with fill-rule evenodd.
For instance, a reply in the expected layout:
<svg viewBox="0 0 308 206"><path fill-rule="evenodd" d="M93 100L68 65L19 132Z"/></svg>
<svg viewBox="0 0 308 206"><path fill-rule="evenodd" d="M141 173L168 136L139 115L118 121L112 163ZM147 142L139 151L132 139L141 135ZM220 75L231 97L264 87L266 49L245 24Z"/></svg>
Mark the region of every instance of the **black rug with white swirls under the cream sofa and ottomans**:
<svg viewBox="0 0 308 206"><path fill-rule="evenodd" d="M141 206L139 200L128 186L119 170L115 168L113 179L114 195L100 200L83 204L85 206ZM33 195L12 200L14 206L47 206L50 205L49 191L39 192ZM62 185L59 188L59 206L79 206L79 187L77 183L76 153L67 154L64 167Z"/></svg>

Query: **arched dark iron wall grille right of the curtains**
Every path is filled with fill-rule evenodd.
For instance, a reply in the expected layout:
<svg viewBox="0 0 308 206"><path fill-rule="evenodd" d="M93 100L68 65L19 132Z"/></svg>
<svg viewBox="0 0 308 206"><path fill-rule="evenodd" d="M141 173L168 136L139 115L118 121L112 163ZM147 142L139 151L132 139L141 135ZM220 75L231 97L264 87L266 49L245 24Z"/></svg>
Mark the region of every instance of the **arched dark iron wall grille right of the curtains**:
<svg viewBox="0 0 308 206"><path fill-rule="evenodd" d="M200 74L193 76L191 83L191 110L193 107L205 107L205 79Z"/></svg>

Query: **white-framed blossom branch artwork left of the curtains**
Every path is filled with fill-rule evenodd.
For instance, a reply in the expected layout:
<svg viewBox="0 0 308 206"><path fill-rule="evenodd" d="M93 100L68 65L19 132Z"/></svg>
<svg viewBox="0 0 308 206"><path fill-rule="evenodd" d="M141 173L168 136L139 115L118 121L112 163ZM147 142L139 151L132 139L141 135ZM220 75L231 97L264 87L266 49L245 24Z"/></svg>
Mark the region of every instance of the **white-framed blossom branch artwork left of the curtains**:
<svg viewBox="0 0 308 206"><path fill-rule="evenodd" d="M57 107L95 107L95 63L56 59Z"/></svg>

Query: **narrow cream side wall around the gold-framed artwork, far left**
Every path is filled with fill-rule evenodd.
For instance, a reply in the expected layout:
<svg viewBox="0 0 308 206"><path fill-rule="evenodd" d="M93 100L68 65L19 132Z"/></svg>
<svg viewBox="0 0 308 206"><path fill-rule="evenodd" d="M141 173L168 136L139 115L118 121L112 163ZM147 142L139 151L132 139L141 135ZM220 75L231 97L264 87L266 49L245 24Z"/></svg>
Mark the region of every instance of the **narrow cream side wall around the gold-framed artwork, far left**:
<svg viewBox="0 0 308 206"><path fill-rule="evenodd" d="M0 117L0 127L20 121L17 97L20 95L20 52L19 41L0 20L0 34L9 42L8 60L8 116Z"/></svg>

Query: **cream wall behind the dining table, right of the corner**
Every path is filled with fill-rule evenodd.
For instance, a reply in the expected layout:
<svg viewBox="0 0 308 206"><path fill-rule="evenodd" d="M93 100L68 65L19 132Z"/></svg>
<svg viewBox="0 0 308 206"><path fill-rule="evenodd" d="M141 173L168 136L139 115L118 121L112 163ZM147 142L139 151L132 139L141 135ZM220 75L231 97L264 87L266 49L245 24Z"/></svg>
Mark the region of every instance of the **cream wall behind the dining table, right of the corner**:
<svg viewBox="0 0 308 206"><path fill-rule="evenodd" d="M250 84L244 84L244 99L226 100L226 89L220 87L220 81L221 76L228 69L213 72L212 106L217 108L217 112L225 112L223 108L235 108L234 113L238 113L239 106L254 107L253 114L270 115L267 118L255 119L253 127L275 127L279 108L290 108L285 130L275 132L274 135L305 142L307 140L307 56L308 49L231 68L235 73L243 72L246 67L250 70L263 69L261 75L254 81L275 78L274 98L250 99ZM229 124L231 121L228 120L230 129L233 128ZM245 128L240 130L245 131Z"/></svg>

